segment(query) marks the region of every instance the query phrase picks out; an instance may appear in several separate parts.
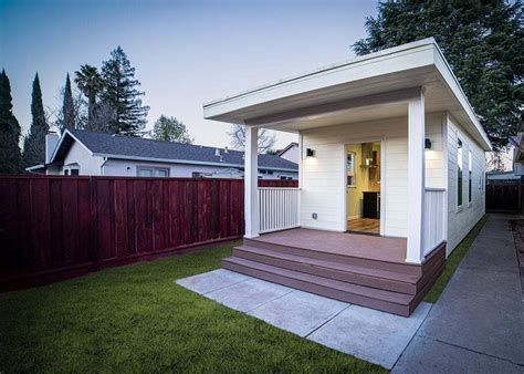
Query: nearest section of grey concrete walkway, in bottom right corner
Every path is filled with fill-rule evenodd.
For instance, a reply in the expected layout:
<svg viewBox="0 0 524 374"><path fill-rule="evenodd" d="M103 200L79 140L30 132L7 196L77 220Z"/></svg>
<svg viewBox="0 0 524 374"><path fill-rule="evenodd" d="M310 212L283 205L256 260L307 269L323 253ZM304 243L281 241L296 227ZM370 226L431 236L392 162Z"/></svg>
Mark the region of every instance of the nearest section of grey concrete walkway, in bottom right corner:
<svg viewBox="0 0 524 374"><path fill-rule="evenodd" d="M391 373L520 373L522 366L459 346L415 336Z"/></svg>

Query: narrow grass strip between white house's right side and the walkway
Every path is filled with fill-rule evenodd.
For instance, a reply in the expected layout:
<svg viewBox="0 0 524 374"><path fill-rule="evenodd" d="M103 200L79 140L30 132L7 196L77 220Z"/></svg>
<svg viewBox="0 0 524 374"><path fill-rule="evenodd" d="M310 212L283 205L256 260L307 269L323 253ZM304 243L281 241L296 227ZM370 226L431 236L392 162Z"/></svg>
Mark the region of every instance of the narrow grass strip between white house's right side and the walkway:
<svg viewBox="0 0 524 374"><path fill-rule="evenodd" d="M448 285L451 277L453 277L454 271L460 264L460 261L464 258L468 249L470 249L471 245L475 240L476 236L479 235L480 230L484 226L485 221L488 220L488 216L482 217L482 219L473 227L473 229L468 233L468 236L460 242L459 246L453 250L450 257L446 262L446 270L437 279L431 290L429 290L428 294L423 299L427 302L434 303L439 300L440 294Z"/></svg>

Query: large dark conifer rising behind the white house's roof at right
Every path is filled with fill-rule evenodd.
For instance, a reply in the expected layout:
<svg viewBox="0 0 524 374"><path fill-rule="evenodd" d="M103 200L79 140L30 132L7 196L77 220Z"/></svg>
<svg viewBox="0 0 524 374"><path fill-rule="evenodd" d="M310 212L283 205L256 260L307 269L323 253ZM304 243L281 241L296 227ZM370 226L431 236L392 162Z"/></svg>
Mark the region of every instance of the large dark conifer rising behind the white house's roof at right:
<svg viewBox="0 0 524 374"><path fill-rule="evenodd" d="M500 149L522 121L522 20L521 1L385 1L354 50L361 55L433 37Z"/></svg>

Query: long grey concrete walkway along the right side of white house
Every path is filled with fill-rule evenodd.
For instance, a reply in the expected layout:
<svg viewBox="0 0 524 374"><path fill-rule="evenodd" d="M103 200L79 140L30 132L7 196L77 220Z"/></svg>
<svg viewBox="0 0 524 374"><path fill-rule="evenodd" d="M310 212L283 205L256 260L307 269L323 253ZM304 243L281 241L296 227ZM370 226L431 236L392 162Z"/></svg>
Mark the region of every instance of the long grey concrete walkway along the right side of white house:
<svg viewBox="0 0 524 374"><path fill-rule="evenodd" d="M524 302L507 217L490 217L392 372L524 373Z"/></svg>

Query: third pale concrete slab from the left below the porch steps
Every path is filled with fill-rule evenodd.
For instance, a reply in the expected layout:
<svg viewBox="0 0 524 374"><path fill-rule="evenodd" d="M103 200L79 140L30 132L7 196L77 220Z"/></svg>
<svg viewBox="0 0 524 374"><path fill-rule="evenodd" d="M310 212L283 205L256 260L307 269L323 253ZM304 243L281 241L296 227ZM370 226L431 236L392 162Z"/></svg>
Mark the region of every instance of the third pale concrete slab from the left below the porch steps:
<svg viewBox="0 0 524 374"><path fill-rule="evenodd" d="M294 291L248 314L300 336L307 336L348 305L313 293Z"/></svg>

